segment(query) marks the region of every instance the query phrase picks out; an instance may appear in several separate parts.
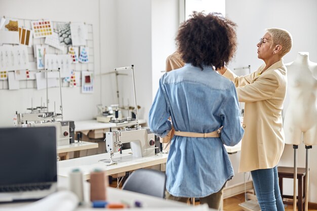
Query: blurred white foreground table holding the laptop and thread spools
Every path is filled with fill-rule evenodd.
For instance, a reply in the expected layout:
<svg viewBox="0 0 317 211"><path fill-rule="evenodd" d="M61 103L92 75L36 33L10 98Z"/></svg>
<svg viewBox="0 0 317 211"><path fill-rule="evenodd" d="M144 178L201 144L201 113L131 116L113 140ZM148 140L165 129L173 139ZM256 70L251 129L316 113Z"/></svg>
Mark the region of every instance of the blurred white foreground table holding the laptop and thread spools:
<svg viewBox="0 0 317 211"><path fill-rule="evenodd" d="M58 177L58 189L59 190L67 190L69 186L68 179ZM84 182L84 204L77 206L74 210L75 211L94 211L94 210L101 210L102 208L92 208L90 203L90 184L88 182ZM115 189L112 187L107 187L106 190L107 194L107 201L111 203L122 203L123 201L133 203L135 201L140 202L143 206L136 207L136 208L124 208L120 209L123 211L138 211L138 210L150 210L150 211L161 211L162 208L166 211L214 211L215 209L208 208L207 204L204 205L196 205L196 206L189 206L182 202L166 200L159 197L149 196L141 193L131 192L127 190ZM53 196L50 195L50 196ZM56 208L65 208L69 207L73 201L68 199L49 199L46 197L42 200L35 201L35 202L13 202L13 203L0 203L0 210L1 211L26 211L26 210L57 210ZM44 202L45 201L45 202ZM36 206L34 206L37 203ZM58 205L57 205L58 204ZM30 207L30 205L33 205ZM54 207L55 206L55 207ZM66 209L63 209L66 210Z"/></svg>

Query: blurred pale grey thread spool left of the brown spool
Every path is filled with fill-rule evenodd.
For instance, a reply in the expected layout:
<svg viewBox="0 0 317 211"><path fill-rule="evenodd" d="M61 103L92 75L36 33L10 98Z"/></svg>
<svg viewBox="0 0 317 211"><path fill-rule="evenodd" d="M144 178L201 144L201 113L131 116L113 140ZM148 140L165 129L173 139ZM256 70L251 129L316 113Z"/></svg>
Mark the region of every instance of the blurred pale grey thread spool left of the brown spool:
<svg viewBox="0 0 317 211"><path fill-rule="evenodd" d="M78 168L69 174L69 189L76 194L80 203L84 202L83 173Z"/></svg>

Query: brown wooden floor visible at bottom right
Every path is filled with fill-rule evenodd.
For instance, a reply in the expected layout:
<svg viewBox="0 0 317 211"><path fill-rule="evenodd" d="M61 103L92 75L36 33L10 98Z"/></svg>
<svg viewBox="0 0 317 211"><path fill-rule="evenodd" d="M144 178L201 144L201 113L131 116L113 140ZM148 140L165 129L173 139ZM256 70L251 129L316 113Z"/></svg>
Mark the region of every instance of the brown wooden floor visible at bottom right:
<svg viewBox="0 0 317 211"><path fill-rule="evenodd" d="M245 201L244 193L223 200L223 210L244 211L240 203ZM308 204L309 205L309 204ZM297 209L298 210L298 209ZM293 211L293 205L286 205L285 211ZM308 207L308 211L317 211Z"/></svg>

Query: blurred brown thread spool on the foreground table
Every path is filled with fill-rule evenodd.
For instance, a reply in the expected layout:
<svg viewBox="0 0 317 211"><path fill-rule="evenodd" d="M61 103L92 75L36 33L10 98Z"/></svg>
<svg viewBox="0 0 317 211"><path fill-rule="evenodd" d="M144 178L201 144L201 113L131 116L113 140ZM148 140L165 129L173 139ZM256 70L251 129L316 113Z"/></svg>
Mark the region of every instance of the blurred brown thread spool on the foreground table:
<svg viewBox="0 0 317 211"><path fill-rule="evenodd" d="M106 187L109 186L108 177L100 170L90 173L90 200L106 200Z"/></svg>

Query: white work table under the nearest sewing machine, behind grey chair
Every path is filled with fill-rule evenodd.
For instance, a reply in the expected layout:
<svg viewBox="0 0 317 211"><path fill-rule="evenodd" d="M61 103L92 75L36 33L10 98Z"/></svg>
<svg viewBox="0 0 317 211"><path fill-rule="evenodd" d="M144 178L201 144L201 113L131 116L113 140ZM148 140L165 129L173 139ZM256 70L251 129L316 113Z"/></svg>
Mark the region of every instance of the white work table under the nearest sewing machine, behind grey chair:
<svg viewBox="0 0 317 211"><path fill-rule="evenodd" d="M108 165L105 162L99 161L102 159L110 159L110 153L103 153L80 157L70 160L62 160L57 162L58 176L68 177L69 173L74 168L79 168L84 175L85 180L90 179L90 173L96 168L104 171L106 175L114 175L123 172L137 170L138 168L149 167L157 164L166 163L168 154L158 153L149 157L133 157L131 149L123 150L123 153L114 153L113 160L118 163Z"/></svg>

